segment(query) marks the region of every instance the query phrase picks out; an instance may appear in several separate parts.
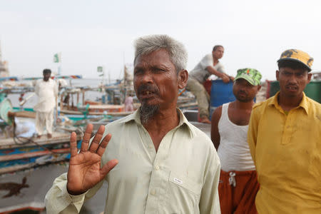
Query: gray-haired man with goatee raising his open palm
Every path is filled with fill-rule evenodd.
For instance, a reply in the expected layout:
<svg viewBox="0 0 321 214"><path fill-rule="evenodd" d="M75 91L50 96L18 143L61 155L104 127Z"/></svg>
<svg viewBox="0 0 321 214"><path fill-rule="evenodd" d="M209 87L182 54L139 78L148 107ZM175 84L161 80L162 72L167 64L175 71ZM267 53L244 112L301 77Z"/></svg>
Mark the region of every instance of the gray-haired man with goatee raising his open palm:
<svg viewBox="0 0 321 214"><path fill-rule="evenodd" d="M105 213L220 213L213 143L176 108L186 61L183 44L169 36L136 41L133 83L141 107L101 126L91 146L88 125L80 153L71 135L68 174L46 194L47 213L78 213L103 180Z"/></svg>

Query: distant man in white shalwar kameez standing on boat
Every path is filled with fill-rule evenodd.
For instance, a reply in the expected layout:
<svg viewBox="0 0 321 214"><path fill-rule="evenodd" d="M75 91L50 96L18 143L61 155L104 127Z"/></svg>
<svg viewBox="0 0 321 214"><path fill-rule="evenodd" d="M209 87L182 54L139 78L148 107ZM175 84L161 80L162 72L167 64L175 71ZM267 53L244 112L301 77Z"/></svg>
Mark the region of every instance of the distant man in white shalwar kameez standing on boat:
<svg viewBox="0 0 321 214"><path fill-rule="evenodd" d="M46 129L48 138L51 138L58 87L56 81L50 78L51 70L44 69L43 72L44 78L36 82L35 88L35 93L38 96L38 103L34 106L34 111L36 111L36 132L40 138Z"/></svg>

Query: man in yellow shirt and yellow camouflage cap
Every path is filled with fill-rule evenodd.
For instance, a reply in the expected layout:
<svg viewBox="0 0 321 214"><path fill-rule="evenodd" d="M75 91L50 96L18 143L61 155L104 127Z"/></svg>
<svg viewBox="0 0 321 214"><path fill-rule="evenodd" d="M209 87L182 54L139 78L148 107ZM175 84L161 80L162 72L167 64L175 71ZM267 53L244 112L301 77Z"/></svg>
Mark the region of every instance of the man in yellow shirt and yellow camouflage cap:
<svg viewBox="0 0 321 214"><path fill-rule="evenodd" d="M290 49L277 61L280 91L253 107L248 143L258 172L258 213L320 213L321 105L305 96L313 58Z"/></svg>

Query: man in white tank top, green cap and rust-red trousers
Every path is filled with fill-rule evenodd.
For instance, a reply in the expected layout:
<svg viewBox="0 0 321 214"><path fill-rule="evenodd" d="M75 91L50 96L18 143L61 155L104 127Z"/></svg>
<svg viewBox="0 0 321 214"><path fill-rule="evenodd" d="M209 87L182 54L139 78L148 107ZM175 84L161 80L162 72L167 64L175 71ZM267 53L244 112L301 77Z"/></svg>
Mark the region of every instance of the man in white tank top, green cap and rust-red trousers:
<svg viewBox="0 0 321 214"><path fill-rule="evenodd" d="M257 213L260 188L247 142L248 122L262 75L253 68L238 70L233 84L236 101L215 109L211 138L220 157L220 210L223 214Z"/></svg>

